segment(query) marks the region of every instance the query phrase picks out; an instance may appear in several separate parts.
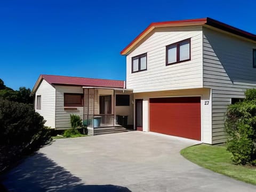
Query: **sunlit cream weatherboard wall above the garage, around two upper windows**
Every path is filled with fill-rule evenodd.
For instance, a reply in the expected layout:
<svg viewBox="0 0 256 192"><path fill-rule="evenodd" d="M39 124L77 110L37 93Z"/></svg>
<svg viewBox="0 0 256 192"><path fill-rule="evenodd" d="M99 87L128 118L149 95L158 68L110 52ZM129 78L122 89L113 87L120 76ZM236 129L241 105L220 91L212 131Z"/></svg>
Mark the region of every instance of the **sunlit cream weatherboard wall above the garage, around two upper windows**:
<svg viewBox="0 0 256 192"><path fill-rule="evenodd" d="M166 45L191 38L191 60L165 65ZM202 27L155 29L146 41L126 56L126 86L134 93L203 87ZM147 53L147 70L131 72L132 57Z"/></svg>

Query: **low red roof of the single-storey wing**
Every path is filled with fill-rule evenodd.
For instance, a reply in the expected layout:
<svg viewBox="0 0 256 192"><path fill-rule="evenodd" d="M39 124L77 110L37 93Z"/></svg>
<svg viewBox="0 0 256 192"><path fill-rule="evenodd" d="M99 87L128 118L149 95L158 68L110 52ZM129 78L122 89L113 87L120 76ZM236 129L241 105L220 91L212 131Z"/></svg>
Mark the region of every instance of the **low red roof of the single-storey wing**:
<svg viewBox="0 0 256 192"><path fill-rule="evenodd" d="M51 85L75 85L75 86L95 86L95 87L113 87L125 88L125 81L84 78L84 77L69 77L60 75L40 75L37 79L32 93L34 93L43 79Z"/></svg>

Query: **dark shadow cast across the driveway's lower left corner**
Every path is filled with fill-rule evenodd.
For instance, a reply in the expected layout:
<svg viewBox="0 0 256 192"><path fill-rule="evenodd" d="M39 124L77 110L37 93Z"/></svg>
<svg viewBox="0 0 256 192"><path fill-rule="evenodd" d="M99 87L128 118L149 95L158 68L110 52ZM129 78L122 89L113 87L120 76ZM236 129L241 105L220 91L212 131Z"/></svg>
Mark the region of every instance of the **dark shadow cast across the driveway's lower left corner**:
<svg viewBox="0 0 256 192"><path fill-rule="evenodd" d="M41 153L25 159L2 179L9 191L130 191L115 185L85 185Z"/></svg>

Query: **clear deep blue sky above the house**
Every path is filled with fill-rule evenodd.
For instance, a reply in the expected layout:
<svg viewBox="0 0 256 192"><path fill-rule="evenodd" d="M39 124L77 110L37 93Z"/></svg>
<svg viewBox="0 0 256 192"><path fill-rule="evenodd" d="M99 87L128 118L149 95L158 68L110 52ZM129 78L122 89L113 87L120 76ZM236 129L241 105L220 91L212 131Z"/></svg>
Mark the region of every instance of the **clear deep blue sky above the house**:
<svg viewBox="0 0 256 192"><path fill-rule="evenodd" d="M33 88L40 74L125 79L120 51L150 22L210 17L256 33L256 2L0 1L0 78Z"/></svg>

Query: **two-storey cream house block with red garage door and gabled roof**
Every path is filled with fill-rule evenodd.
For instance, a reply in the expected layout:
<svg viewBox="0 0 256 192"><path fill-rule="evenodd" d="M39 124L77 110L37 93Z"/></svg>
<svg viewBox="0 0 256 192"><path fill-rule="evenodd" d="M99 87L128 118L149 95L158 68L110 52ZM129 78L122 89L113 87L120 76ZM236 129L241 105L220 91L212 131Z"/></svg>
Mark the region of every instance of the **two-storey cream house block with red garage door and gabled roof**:
<svg viewBox="0 0 256 192"><path fill-rule="evenodd" d="M228 105L256 87L256 36L210 18L151 23L121 54L136 130L224 142Z"/></svg>

